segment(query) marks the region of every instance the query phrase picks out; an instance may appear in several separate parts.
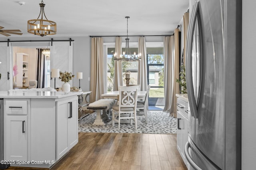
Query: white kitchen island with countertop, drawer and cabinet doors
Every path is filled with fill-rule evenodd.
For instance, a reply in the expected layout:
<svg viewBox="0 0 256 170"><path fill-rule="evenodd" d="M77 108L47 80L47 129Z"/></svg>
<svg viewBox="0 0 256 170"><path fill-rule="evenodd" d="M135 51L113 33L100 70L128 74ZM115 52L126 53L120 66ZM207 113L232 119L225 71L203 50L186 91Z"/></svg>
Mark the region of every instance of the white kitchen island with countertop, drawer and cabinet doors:
<svg viewBox="0 0 256 170"><path fill-rule="evenodd" d="M50 168L78 143L78 95L83 92L2 91L4 160Z"/></svg>

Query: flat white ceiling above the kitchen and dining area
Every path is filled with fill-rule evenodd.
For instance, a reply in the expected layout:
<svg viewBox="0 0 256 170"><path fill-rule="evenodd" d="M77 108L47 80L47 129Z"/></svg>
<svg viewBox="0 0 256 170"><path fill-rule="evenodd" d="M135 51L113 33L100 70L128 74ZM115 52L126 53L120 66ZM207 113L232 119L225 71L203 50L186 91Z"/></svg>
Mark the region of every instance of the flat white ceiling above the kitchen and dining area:
<svg viewBox="0 0 256 170"><path fill-rule="evenodd" d="M188 10L189 0L44 0L48 20L57 23L53 36L170 35ZM18 2L25 2L20 5ZM40 13L40 0L1 0L0 26L27 32L27 21ZM0 35L5 37L4 35Z"/></svg>

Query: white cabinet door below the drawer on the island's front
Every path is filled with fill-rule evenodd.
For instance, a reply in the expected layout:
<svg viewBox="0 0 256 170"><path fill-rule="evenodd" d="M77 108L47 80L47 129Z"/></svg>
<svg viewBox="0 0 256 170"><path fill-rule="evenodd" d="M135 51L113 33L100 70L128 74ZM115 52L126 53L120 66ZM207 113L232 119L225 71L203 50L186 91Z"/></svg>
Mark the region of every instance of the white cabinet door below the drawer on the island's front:
<svg viewBox="0 0 256 170"><path fill-rule="evenodd" d="M28 160L28 117L6 116L4 160Z"/></svg>

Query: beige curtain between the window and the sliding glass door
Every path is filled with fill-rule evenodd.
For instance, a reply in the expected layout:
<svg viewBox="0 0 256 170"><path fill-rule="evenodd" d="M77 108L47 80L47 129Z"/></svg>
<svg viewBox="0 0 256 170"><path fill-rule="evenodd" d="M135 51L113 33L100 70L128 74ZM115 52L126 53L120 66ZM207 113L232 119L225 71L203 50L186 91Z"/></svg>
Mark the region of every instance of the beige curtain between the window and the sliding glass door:
<svg viewBox="0 0 256 170"><path fill-rule="evenodd" d="M146 41L145 37L139 37L138 54L141 54L141 61L138 62L138 83L140 90L146 91L148 87L147 79L147 59L146 59Z"/></svg>

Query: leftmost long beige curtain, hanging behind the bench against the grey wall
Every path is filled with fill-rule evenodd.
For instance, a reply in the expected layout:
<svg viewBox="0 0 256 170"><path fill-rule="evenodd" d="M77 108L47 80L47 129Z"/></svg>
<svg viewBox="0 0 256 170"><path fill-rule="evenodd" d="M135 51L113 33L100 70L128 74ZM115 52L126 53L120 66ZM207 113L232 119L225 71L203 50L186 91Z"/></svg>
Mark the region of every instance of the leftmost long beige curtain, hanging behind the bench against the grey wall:
<svg viewBox="0 0 256 170"><path fill-rule="evenodd" d="M106 93L106 57L103 53L103 38L91 39L91 78L90 78L90 102L95 102Z"/></svg>

